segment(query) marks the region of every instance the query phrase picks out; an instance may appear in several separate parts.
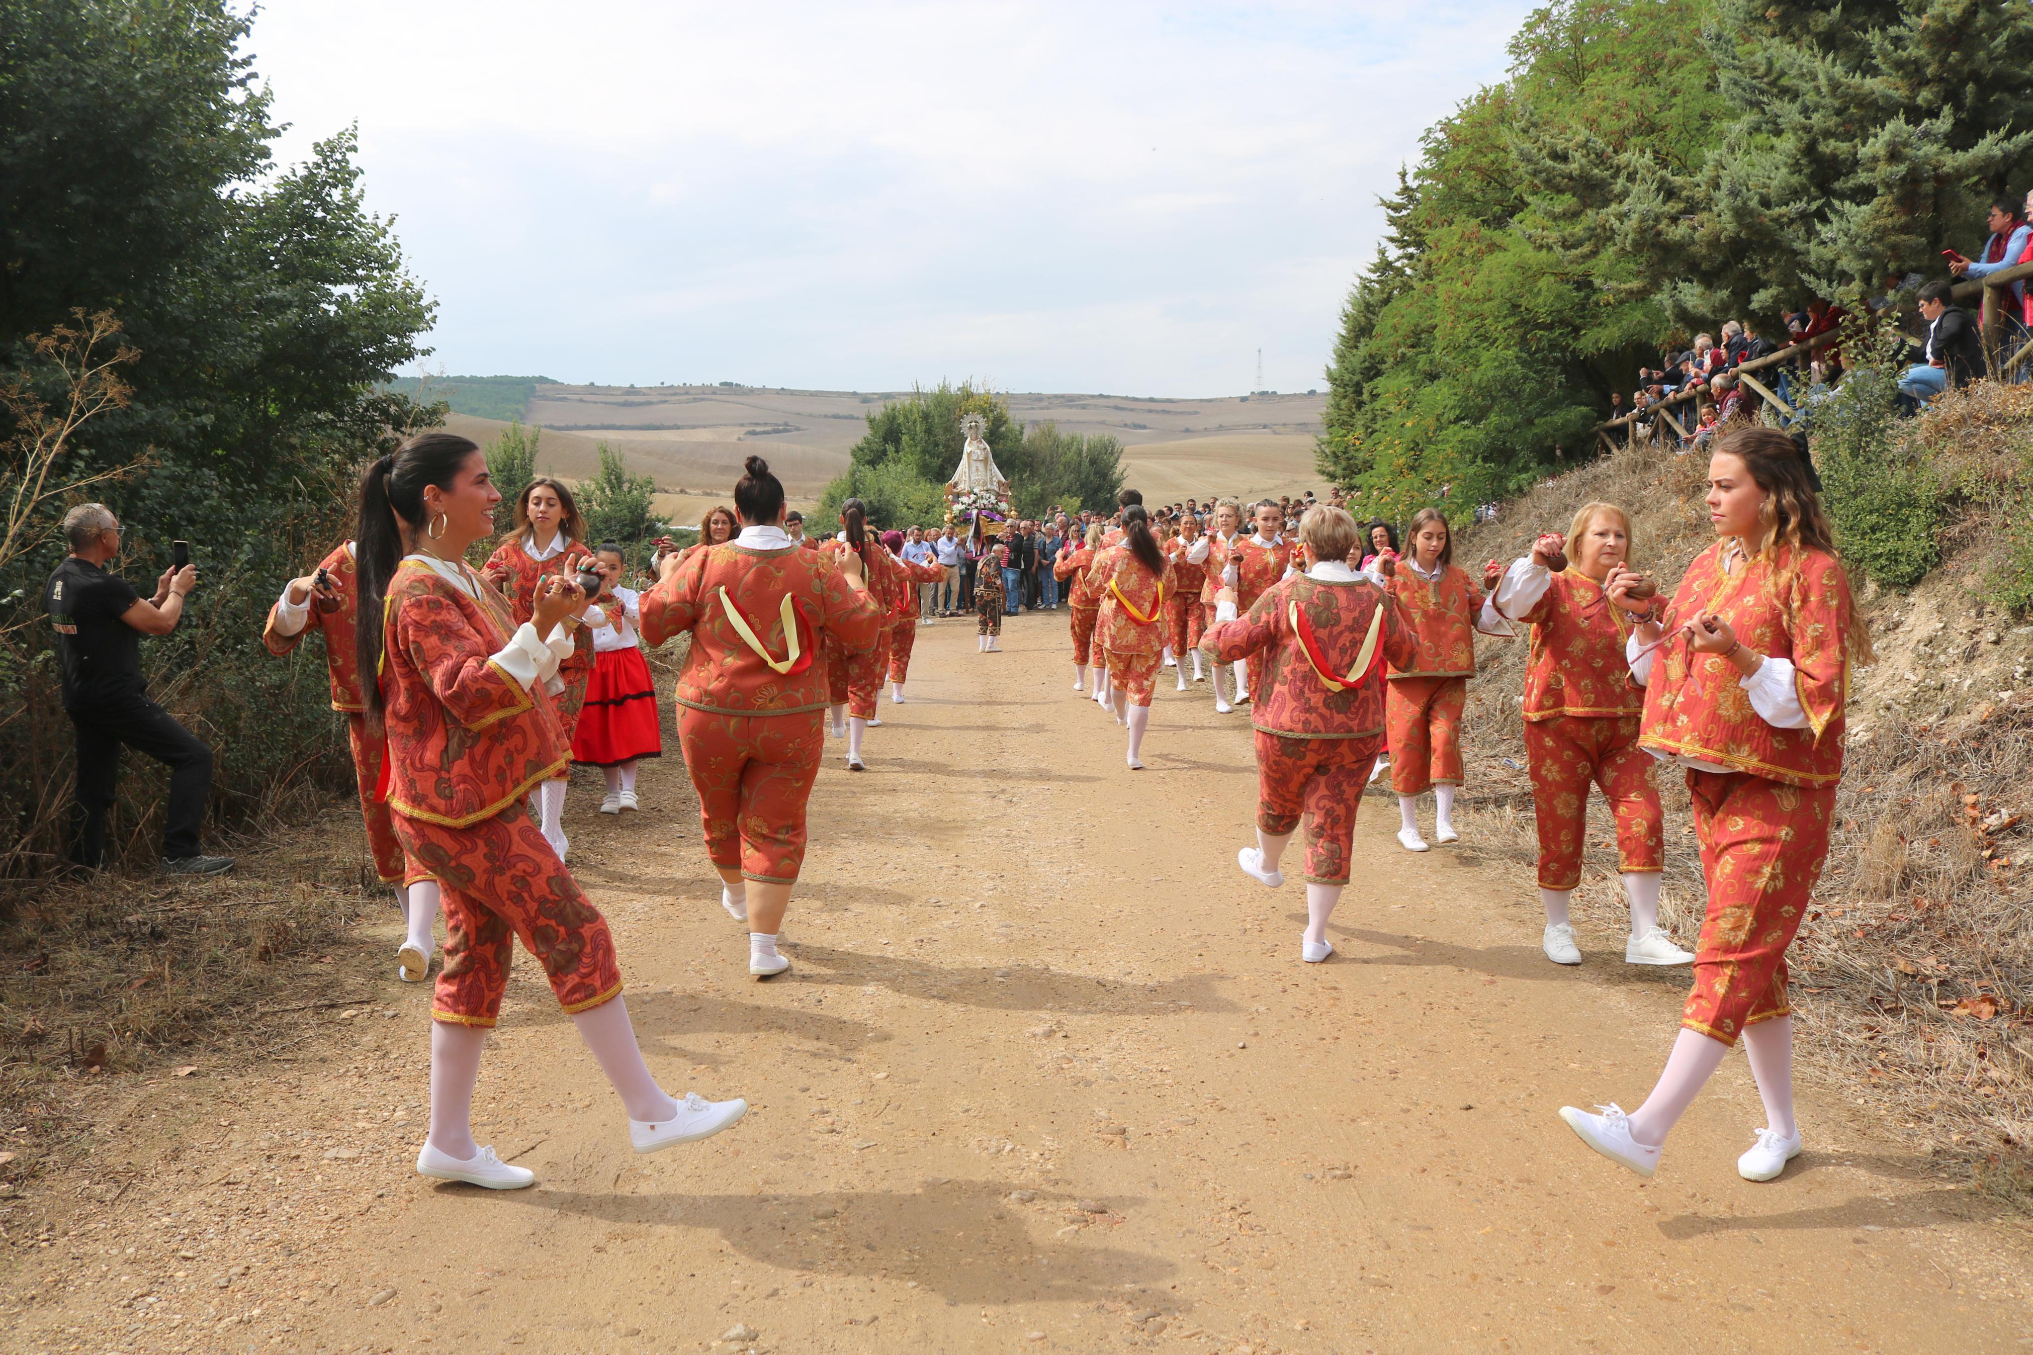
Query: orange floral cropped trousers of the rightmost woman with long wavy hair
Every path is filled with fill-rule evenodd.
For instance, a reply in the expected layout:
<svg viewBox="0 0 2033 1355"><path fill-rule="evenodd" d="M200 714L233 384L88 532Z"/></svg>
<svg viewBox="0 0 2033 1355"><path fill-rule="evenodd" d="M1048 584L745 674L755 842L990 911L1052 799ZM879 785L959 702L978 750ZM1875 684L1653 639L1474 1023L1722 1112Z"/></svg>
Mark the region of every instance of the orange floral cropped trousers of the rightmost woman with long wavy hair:
<svg viewBox="0 0 2033 1355"><path fill-rule="evenodd" d="M1679 1024L1724 1044L1787 1016L1793 945L1836 819L1834 786L1787 786L1748 772L1687 772L1708 916Z"/></svg>

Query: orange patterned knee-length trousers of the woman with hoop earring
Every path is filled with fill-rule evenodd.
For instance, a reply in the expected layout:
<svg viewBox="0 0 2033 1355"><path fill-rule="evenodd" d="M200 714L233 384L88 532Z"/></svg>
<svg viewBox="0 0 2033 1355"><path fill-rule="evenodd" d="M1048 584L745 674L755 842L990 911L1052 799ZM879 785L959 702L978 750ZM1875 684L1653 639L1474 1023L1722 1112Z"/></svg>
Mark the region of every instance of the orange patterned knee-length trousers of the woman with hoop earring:
<svg viewBox="0 0 2033 1355"><path fill-rule="evenodd" d="M622 991L608 920L588 902L520 800L453 829L392 815L403 847L429 872L445 904L445 969L431 1016L455 1026L492 1026L514 941L543 965L567 1014Z"/></svg>

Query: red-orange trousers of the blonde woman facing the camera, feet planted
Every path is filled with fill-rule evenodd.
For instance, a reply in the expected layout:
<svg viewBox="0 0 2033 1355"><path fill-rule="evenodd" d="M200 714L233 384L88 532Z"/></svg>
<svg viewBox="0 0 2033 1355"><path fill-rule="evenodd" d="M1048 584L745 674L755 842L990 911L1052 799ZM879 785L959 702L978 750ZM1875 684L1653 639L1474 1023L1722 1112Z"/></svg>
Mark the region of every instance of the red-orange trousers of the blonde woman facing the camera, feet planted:
<svg viewBox="0 0 2033 1355"><path fill-rule="evenodd" d="M1665 815L1657 758L1639 748L1637 715L1555 715L1525 721L1525 766L1539 821L1539 888L1582 884L1588 786L1602 790L1616 819L1616 869L1665 869Z"/></svg>

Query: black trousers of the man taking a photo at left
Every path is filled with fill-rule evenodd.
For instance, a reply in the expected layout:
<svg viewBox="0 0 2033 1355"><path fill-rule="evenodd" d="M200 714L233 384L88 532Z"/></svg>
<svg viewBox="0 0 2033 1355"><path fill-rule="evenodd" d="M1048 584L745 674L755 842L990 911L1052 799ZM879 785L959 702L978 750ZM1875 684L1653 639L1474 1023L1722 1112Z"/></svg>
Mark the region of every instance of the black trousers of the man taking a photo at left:
<svg viewBox="0 0 2033 1355"><path fill-rule="evenodd" d="M122 744L169 768L163 855L171 861L197 855L197 829L211 794L211 750L146 697L124 697L69 715L77 727L71 859L98 867L106 857L106 813L114 806Z"/></svg>

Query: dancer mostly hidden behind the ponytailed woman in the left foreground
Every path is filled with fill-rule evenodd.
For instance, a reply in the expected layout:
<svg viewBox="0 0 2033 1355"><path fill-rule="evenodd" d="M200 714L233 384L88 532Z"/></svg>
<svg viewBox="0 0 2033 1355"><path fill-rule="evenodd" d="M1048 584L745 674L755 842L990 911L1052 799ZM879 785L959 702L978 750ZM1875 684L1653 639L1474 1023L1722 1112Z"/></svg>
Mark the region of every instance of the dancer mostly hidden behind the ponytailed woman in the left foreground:
<svg viewBox="0 0 2033 1355"><path fill-rule="evenodd" d="M313 630L325 638L325 670L331 679L331 709L346 715L346 735L354 750L354 784L360 786L360 815L368 825L368 851L374 874L392 884L403 904L403 945L394 953L394 977L421 983L431 969L431 928L437 922L437 882L403 857L388 804L374 788L380 786L382 758L388 739L380 723L368 719L366 695L360 691L358 646L354 630L360 616L360 581L354 565L354 542L340 546L301 579L291 579L268 609L262 644L276 658L291 654ZM315 603L315 605L313 605Z"/></svg>

